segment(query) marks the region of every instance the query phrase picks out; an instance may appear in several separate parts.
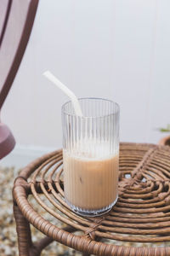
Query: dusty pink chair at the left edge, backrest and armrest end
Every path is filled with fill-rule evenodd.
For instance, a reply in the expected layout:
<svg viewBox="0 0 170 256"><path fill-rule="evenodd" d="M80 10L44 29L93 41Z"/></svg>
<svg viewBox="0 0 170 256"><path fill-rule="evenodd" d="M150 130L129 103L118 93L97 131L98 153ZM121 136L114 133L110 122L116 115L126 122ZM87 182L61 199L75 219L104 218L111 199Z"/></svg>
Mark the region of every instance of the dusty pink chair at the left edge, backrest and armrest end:
<svg viewBox="0 0 170 256"><path fill-rule="evenodd" d="M0 113L30 38L37 4L38 0L0 1ZM8 126L0 122L0 159L14 144Z"/></svg>

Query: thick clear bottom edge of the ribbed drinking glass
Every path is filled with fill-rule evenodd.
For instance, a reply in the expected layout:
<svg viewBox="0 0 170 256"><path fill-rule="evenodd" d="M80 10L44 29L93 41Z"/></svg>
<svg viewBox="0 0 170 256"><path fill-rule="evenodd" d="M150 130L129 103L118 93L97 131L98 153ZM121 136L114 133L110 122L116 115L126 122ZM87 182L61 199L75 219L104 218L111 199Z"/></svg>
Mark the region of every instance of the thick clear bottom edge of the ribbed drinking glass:
<svg viewBox="0 0 170 256"><path fill-rule="evenodd" d="M66 201L66 203L69 205L69 207L71 207L71 210L75 213L77 213L78 215L84 216L84 217L97 217L100 215L105 214L106 212L110 212L111 208L116 204L118 197L116 198L115 201L113 201L111 203L111 205L109 205L108 207L103 207L101 209L97 209L97 210L86 210L86 209L82 209L79 207L75 207L73 206L69 201Z"/></svg>

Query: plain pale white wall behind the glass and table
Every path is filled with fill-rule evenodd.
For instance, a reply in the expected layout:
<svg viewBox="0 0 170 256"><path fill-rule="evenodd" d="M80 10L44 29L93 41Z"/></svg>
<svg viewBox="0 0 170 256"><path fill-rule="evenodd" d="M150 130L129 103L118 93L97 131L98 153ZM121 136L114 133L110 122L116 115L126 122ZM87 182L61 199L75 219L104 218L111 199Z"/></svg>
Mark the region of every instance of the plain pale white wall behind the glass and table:
<svg viewBox="0 0 170 256"><path fill-rule="evenodd" d="M60 148L66 96L121 106L121 141L157 143L170 122L169 0L40 0L26 54L2 111L18 144Z"/></svg>

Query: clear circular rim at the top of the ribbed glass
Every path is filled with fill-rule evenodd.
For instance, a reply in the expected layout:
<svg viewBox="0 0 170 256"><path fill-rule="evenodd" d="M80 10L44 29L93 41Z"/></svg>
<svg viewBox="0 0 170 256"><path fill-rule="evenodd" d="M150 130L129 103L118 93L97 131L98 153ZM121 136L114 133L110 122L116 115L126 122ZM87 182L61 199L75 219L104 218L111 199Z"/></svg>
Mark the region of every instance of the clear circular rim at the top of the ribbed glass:
<svg viewBox="0 0 170 256"><path fill-rule="evenodd" d="M61 106L61 113L64 113L66 115L69 116L76 116L77 118L82 118L82 119L99 119L99 118L105 118L105 117L109 117L111 115L116 115L118 113L120 113L120 106L118 103L113 102L109 99L105 99L105 98L98 98L98 97L82 97L82 98L78 98L78 101L80 100L100 100L100 101L105 101L105 102L111 102L112 104L116 105L116 111L114 113L109 113L109 114L105 114L105 115L100 115L100 116L77 116L76 113L68 113L64 108L65 106L70 103L71 101L65 102L62 106Z"/></svg>

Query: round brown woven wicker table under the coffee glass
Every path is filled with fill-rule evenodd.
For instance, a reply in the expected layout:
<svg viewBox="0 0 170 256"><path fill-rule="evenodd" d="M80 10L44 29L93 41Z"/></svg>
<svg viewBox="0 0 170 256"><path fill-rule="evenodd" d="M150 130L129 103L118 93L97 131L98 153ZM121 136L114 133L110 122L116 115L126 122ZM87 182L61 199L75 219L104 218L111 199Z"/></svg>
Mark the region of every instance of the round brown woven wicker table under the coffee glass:
<svg viewBox="0 0 170 256"><path fill-rule="evenodd" d="M61 150L26 166L13 190L20 256L40 255L51 241L83 255L170 255L170 148L122 143L119 180L111 212L82 218L64 200ZM35 209L31 197L54 221ZM30 224L46 237L32 243Z"/></svg>

